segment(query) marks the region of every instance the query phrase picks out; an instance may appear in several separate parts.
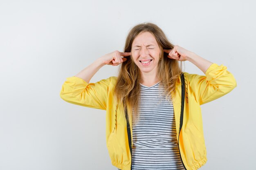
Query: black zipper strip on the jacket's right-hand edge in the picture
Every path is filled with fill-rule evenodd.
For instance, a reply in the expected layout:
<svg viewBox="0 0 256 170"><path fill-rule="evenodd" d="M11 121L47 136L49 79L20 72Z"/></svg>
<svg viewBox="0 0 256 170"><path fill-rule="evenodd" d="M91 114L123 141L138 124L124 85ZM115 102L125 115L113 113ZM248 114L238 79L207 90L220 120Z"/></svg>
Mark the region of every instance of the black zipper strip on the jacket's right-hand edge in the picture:
<svg viewBox="0 0 256 170"><path fill-rule="evenodd" d="M184 112L184 98L185 98L185 88L184 88L184 74L182 73L180 75L181 77L181 96L182 96L182 103L181 103L181 108L180 108L180 131L181 131L181 128L182 128L182 124L183 124L183 112ZM180 131L179 131L179 136L178 136L178 147L179 147L179 153L180 153ZM180 154L180 159L182 161L182 157L181 157L181 154ZM182 161L182 164L186 169L183 161Z"/></svg>

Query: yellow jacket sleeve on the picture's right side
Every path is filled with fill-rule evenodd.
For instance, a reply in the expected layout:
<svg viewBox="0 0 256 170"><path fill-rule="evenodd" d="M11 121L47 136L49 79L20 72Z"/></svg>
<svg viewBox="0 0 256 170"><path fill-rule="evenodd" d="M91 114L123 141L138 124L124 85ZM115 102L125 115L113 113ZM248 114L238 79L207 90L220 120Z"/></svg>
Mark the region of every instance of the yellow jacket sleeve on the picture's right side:
<svg viewBox="0 0 256 170"><path fill-rule="evenodd" d="M200 105L218 99L236 87L236 79L227 67L216 63L209 66L205 75L188 74L188 79Z"/></svg>

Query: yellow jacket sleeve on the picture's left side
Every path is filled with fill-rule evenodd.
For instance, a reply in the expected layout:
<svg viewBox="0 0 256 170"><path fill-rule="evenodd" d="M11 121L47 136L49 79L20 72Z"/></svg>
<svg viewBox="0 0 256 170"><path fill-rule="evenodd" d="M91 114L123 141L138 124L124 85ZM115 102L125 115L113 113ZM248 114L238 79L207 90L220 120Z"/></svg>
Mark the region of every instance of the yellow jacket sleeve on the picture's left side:
<svg viewBox="0 0 256 170"><path fill-rule="evenodd" d="M111 77L88 84L79 77L68 77L62 85L60 96L66 102L106 110Z"/></svg>

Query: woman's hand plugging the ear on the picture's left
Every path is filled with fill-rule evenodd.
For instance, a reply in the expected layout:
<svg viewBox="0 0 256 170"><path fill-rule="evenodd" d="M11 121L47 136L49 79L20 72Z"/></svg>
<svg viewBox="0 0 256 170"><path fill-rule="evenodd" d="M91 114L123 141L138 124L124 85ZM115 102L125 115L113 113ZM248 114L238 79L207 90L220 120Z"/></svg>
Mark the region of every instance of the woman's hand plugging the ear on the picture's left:
<svg viewBox="0 0 256 170"><path fill-rule="evenodd" d="M127 59L125 57L130 56L130 52L120 52L120 51L113 51L112 53L108 53L101 57L102 62L106 65L118 66L122 62L125 62ZM122 58L123 56L124 58Z"/></svg>

